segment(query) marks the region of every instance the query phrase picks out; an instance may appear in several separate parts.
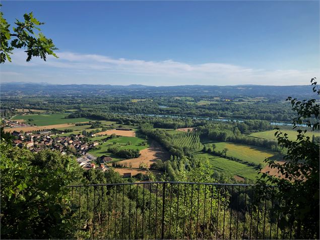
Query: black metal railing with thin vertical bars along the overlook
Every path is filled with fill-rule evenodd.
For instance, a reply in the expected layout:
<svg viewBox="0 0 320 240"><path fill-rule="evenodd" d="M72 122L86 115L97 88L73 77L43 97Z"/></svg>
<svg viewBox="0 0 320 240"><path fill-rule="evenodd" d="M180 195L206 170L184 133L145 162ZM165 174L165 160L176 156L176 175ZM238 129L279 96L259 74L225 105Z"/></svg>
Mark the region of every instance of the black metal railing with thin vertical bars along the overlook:
<svg viewBox="0 0 320 240"><path fill-rule="evenodd" d="M273 188L146 182L69 186L79 237L101 239L278 239Z"/></svg>

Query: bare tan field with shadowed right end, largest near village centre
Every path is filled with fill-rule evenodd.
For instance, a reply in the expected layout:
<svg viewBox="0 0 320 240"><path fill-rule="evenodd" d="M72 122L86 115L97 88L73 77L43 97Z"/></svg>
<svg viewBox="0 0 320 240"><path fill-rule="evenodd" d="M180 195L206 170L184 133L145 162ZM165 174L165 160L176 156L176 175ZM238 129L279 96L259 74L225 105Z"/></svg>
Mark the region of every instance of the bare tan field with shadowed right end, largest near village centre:
<svg viewBox="0 0 320 240"><path fill-rule="evenodd" d="M152 142L150 147L140 151L140 157L127 159L123 161L119 161L117 163L126 164L127 166L132 167L140 167L140 163L146 163L148 168L150 165L154 163L156 160L167 160L170 156L167 151L165 151L160 144L156 142Z"/></svg>

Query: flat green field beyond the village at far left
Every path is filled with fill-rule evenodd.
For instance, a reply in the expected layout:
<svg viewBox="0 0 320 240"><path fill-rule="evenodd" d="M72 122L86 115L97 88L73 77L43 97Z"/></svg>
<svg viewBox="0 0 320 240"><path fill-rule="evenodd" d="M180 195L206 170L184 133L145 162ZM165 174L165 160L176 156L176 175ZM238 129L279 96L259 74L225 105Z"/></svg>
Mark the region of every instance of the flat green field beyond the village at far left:
<svg viewBox="0 0 320 240"><path fill-rule="evenodd" d="M55 114L30 114L30 115L17 115L13 117L13 120L23 119L30 124L35 124L37 126L47 126L47 125L57 125L57 124L74 124L89 122L91 119L81 117L81 118L65 118L69 113L55 113ZM33 121L28 121L31 118Z"/></svg>

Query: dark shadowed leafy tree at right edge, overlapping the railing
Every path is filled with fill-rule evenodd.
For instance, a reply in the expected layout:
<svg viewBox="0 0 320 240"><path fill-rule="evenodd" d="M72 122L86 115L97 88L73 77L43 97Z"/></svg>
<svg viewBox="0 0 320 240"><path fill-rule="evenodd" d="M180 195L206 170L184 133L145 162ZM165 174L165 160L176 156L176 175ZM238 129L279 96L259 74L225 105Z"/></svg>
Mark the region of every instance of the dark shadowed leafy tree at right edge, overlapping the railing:
<svg viewBox="0 0 320 240"><path fill-rule="evenodd" d="M311 79L313 92L320 95L315 78ZM276 203L282 229L294 226L295 238L319 239L319 142L312 142L305 136L298 125L305 123L312 130L319 131L319 104L315 99L298 101L288 97L292 109L297 113L293 119L293 129L297 129L297 140L289 140L286 133L281 130L275 133L278 145L287 149L284 155L284 164L279 164L271 159L266 159L269 167L281 172L285 178L278 178L262 173L258 179L258 186L274 185L274 195L280 201ZM303 121L313 118L315 122Z"/></svg>

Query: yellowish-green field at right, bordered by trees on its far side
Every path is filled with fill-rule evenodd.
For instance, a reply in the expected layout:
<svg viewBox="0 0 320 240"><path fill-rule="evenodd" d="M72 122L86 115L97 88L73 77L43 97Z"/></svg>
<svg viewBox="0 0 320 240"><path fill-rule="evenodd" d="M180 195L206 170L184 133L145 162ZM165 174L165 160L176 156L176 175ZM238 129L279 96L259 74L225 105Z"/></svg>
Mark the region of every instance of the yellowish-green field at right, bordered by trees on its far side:
<svg viewBox="0 0 320 240"><path fill-rule="evenodd" d="M206 143L206 146L211 147L213 143L214 142ZM227 156L236 157L241 160L252 162L255 164L261 163L265 165L266 163L264 162L264 160L266 158L281 160L279 154L262 147L255 147L229 142L215 142L214 144L217 147L215 151L222 151L224 148L227 148Z"/></svg>

